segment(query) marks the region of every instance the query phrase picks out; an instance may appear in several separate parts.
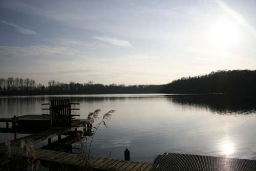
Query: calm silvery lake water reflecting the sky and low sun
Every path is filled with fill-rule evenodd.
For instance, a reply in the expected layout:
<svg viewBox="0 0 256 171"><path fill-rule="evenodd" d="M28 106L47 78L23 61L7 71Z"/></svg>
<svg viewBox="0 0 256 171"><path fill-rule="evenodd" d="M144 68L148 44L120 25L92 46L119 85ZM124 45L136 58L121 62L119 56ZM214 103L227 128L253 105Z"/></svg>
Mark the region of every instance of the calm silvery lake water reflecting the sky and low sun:
<svg viewBox="0 0 256 171"><path fill-rule="evenodd" d="M116 110L95 135L91 154L152 162L164 152L256 159L256 102L225 95L72 95L0 97L0 117L41 114L41 103L68 97L80 118ZM5 124L1 124L4 127ZM0 141L13 135L0 133ZM24 135L19 135L24 136Z"/></svg>

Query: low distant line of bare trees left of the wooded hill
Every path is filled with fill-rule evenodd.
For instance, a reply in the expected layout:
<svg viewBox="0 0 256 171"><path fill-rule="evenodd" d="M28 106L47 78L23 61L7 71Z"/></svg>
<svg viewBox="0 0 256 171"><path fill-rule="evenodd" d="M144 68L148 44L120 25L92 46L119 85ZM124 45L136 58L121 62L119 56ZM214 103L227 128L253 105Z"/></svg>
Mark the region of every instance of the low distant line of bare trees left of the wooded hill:
<svg viewBox="0 0 256 171"><path fill-rule="evenodd" d="M29 78L0 78L0 95L60 95L60 94L121 94L121 93L158 93L162 86L159 85L134 85L124 84L104 85L99 83L62 83L55 80L48 81L45 86Z"/></svg>

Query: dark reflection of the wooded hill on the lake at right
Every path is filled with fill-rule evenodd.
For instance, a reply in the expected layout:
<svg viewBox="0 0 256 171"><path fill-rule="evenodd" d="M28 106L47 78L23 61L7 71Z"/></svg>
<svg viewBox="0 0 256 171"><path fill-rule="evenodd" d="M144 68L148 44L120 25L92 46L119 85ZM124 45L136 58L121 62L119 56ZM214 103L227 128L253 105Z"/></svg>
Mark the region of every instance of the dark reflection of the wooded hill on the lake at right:
<svg viewBox="0 0 256 171"><path fill-rule="evenodd" d="M255 98L228 95L174 95L166 97L174 103L206 108L217 114L250 114L255 113L256 110Z"/></svg>

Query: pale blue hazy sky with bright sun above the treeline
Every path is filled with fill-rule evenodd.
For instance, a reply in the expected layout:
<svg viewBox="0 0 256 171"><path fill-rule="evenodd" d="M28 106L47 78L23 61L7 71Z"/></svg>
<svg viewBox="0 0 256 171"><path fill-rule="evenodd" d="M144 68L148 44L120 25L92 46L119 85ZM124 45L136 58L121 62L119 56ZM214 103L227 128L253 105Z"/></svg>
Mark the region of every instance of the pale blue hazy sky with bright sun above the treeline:
<svg viewBox="0 0 256 171"><path fill-rule="evenodd" d="M256 1L0 1L0 77L163 84L256 69Z"/></svg>

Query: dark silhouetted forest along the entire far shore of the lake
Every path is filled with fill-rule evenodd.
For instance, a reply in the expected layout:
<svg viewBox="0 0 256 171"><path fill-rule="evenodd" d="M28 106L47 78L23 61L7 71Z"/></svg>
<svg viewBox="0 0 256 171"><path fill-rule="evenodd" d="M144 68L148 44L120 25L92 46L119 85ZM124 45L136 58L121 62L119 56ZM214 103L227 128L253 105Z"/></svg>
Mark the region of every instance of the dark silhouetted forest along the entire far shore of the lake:
<svg viewBox="0 0 256 171"><path fill-rule="evenodd" d="M256 70L216 71L206 75L182 77L162 85L62 83L55 80L45 86L29 78L0 78L0 95L59 95L59 94L250 94L256 95Z"/></svg>

